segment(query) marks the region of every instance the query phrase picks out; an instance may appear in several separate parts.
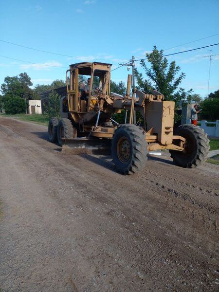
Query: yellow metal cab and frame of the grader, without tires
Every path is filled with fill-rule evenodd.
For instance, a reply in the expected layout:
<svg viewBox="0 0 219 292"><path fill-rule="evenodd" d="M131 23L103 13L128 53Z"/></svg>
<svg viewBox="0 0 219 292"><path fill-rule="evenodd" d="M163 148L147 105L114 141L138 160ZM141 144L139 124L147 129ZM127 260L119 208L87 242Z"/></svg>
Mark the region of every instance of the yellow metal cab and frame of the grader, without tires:
<svg viewBox="0 0 219 292"><path fill-rule="evenodd" d="M88 70L90 68L90 70ZM140 111L146 119L147 129L145 131L145 139L148 143L148 150L158 149L172 149L183 151L183 142L185 139L180 136L173 135L173 117L174 117L174 102L164 101L164 95L154 91L155 94L145 94L142 91L135 90L130 97L131 77L128 75L127 92L125 97L118 97L118 95L110 96L110 68L111 64L104 63L79 63L70 65L70 69L66 72L67 84L67 100L69 115L73 123L84 124L84 128L89 130L91 137L96 138L113 138L117 126L101 127L89 123L93 116L97 116L98 111L101 113L112 114L113 112L120 112L122 109L130 111L130 119L133 120L134 110ZM81 70L80 70L81 69ZM99 96L92 96L92 84L95 70L101 70L105 73L105 80L102 92ZM84 101L80 100L78 89L78 75L79 73L91 72L91 86L88 96L88 106L85 109ZM68 76L70 73L70 76ZM134 100L135 99L135 100ZM93 103L96 101L96 104ZM61 114L61 116L63 116ZM66 117L66 115L65 115ZM106 116L108 120L110 116ZM130 121L129 119L129 121ZM180 146L173 144L173 140L180 140Z"/></svg>

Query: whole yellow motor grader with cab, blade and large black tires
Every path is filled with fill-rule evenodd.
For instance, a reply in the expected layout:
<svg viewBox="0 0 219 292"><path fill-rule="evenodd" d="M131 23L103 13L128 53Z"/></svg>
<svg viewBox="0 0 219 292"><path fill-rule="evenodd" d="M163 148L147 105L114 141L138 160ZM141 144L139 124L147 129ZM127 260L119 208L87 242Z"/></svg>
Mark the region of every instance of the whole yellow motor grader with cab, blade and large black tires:
<svg viewBox="0 0 219 292"><path fill-rule="evenodd" d="M75 154L110 151L122 174L142 170L148 151L158 149L169 149L173 161L186 168L206 160L209 140L201 128L182 125L173 129L174 102L165 101L158 91L146 94L135 89L133 74L128 74L125 96L110 94L110 69L111 64L100 62L70 65L66 94L60 99L61 119L50 119L49 141ZM80 75L90 79L87 90L80 85ZM126 112L123 125L112 119L121 110ZM144 125L133 123L135 112L141 113Z"/></svg>

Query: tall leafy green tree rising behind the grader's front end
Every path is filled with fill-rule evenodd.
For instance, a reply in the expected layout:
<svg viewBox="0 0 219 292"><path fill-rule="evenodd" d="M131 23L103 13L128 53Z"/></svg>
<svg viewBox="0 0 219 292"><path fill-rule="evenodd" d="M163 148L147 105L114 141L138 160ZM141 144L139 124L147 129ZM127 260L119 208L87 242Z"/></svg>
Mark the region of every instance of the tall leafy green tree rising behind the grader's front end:
<svg viewBox="0 0 219 292"><path fill-rule="evenodd" d="M181 93L185 95L185 91L182 92L182 88L178 89L185 77L185 73L179 73L181 68L176 65L175 61L169 64L167 58L164 57L163 50L159 51L156 46L154 46L152 53L146 54L146 59L150 64L149 66L146 65L144 60L141 61L142 68L146 73L146 79L144 79L142 73L135 71L140 90L151 93L151 90L156 88L157 91L164 94L165 100L174 101L179 100ZM176 93L178 93L178 97L174 98Z"/></svg>

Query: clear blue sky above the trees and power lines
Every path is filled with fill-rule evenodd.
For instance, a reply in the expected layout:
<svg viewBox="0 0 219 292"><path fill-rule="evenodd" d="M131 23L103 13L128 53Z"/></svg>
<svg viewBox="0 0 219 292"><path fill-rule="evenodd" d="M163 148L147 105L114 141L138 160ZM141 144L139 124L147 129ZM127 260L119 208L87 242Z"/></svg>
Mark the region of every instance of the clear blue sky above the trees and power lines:
<svg viewBox="0 0 219 292"><path fill-rule="evenodd" d="M0 39L49 52L51 55L0 42L0 55L36 63L27 64L0 57L0 84L6 75L30 75L34 85L64 79L69 64L91 59L128 60L142 56L153 45L175 47L219 33L218 0L1 0ZM165 50L170 54L219 43L219 35ZM185 89L205 96L209 58L219 46L169 57L186 77ZM110 62L110 61L107 61ZM112 60L116 68L121 61ZM63 66L65 68L49 67ZM112 68L112 69L113 69ZM126 68L112 72L112 80L125 81ZM219 89L219 55L211 64L210 91Z"/></svg>

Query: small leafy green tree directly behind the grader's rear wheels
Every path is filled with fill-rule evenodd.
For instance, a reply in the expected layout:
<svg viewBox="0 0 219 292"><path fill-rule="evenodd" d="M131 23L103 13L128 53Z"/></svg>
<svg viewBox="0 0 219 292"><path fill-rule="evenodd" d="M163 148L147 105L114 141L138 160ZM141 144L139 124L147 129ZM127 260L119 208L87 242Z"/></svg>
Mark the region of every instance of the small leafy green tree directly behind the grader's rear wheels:
<svg viewBox="0 0 219 292"><path fill-rule="evenodd" d="M49 117L60 117L60 96L55 91L50 92L45 104L45 114Z"/></svg>

